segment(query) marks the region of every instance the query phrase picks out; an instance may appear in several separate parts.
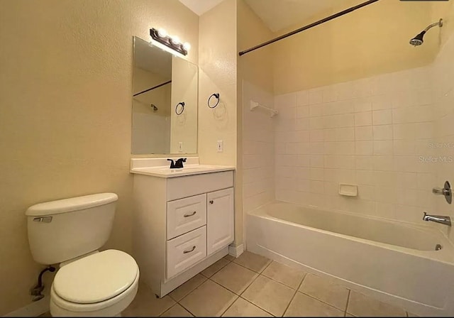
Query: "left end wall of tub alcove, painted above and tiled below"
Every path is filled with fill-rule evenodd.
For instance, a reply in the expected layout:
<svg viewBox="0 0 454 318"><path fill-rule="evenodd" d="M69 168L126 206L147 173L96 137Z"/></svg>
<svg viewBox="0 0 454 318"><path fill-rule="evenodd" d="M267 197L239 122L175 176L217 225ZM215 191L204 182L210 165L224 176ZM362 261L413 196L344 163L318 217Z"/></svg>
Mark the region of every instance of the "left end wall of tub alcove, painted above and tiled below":
<svg viewBox="0 0 454 318"><path fill-rule="evenodd" d="M250 9L244 0L237 1L237 43L238 52L272 38L271 31ZM238 56L238 111L237 111L237 170L236 170L236 212L238 218L244 219L244 214L257 204L263 204L268 195L274 192L274 185L270 181L274 178L273 143L274 138L267 132L272 131L267 115L261 113L250 114L250 99L272 106L270 100L273 89L272 77L272 47L268 46L254 53ZM249 116L248 116L249 115ZM265 126L262 126L265 125ZM265 132L260 136L261 132ZM258 158L260 157L260 158ZM255 162L255 160L258 160ZM264 161L265 160L265 161ZM254 183L265 180L260 190L253 190ZM274 183L274 182L272 182ZM244 187L244 189L243 189ZM252 190L252 191L251 191ZM242 224L243 221L237 224ZM244 235L243 235L244 236Z"/></svg>

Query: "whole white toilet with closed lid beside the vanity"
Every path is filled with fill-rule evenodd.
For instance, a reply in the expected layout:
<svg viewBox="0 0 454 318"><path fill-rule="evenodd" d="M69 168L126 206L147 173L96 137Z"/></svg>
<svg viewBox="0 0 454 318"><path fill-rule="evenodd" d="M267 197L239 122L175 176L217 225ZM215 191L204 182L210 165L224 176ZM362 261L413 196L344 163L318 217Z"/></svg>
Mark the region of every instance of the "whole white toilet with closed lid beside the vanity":
<svg viewBox="0 0 454 318"><path fill-rule="evenodd" d="M98 251L111 233L117 199L99 193L27 209L33 259L59 264L50 287L52 316L121 316L133 301L139 280L134 258L113 249Z"/></svg>

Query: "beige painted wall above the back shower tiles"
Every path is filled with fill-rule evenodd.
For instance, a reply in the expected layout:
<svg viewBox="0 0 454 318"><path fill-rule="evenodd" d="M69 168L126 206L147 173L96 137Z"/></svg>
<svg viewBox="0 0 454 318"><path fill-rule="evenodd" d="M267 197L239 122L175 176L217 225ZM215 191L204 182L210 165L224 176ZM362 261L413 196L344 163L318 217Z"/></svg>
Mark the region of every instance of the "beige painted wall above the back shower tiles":
<svg viewBox="0 0 454 318"><path fill-rule="evenodd" d="M448 5L383 0L272 44L275 93L296 92L430 64L439 49L440 31L437 28L429 31L424 44L418 48L409 45L409 40L437 21L438 13ZM340 9L321 13L285 31Z"/></svg>

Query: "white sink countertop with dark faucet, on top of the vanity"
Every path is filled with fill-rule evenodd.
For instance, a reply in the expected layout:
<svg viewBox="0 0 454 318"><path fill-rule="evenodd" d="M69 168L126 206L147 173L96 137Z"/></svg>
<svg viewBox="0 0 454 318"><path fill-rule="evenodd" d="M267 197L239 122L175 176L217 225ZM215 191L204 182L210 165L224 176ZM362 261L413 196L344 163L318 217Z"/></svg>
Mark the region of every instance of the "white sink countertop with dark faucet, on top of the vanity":
<svg viewBox="0 0 454 318"><path fill-rule="evenodd" d="M234 170L227 165L186 165L184 168L170 169L168 166L155 166L145 168L132 168L131 172L155 177L182 177L184 175L199 175L209 172Z"/></svg>

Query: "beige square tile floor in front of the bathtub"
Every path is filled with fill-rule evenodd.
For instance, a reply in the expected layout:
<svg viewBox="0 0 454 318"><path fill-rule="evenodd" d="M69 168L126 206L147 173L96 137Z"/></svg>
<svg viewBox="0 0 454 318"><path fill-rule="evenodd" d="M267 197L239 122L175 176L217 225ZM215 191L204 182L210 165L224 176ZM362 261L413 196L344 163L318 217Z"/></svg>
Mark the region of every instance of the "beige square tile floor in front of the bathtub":
<svg viewBox="0 0 454 318"><path fill-rule="evenodd" d="M407 317L404 309L245 252L226 256L158 299L146 285L126 317Z"/></svg>

